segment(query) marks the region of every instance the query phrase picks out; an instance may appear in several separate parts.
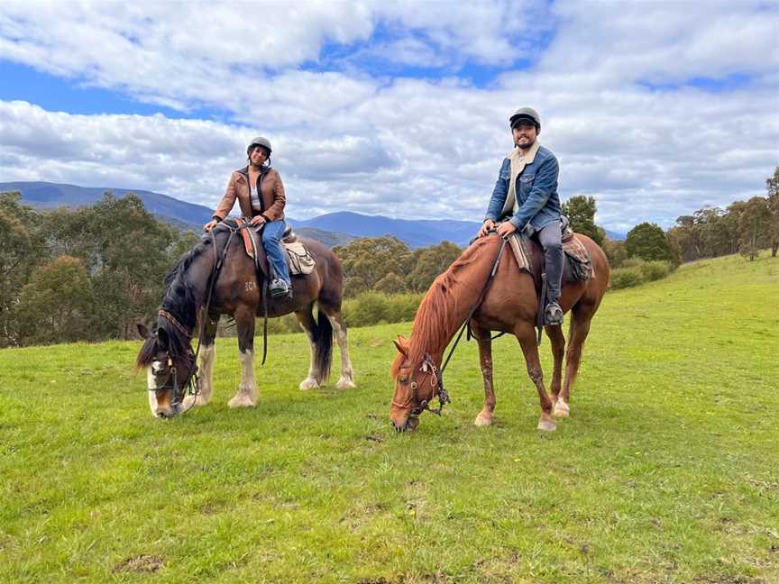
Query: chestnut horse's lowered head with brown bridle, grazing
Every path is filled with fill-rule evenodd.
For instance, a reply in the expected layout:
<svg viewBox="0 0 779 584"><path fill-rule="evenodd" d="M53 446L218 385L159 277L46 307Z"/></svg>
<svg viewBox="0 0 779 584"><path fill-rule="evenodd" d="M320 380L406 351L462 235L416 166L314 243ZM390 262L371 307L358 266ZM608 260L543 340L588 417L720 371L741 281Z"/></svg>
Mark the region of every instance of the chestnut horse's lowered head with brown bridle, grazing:
<svg viewBox="0 0 779 584"><path fill-rule="evenodd" d="M398 432L405 432L417 428L419 415L425 410L440 415L441 407L449 398L444 389L442 373L433 357L426 352L417 354L416 351L410 351L410 343L402 336L394 342L398 357L392 364L395 393L389 418ZM441 407L437 410L429 407L435 396L441 401Z"/></svg>

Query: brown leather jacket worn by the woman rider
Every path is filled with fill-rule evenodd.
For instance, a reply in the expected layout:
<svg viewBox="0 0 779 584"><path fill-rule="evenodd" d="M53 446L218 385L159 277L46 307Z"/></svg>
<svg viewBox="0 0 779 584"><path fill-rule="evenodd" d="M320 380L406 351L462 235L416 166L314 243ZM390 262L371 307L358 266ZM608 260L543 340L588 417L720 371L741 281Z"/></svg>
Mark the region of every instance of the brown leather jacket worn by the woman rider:
<svg viewBox="0 0 779 584"><path fill-rule="evenodd" d="M235 199L238 199L238 205L241 206L241 215L243 217L253 217L255 214L262 214L269 221L278 221L284 218L284 205L287 202L284 196L284 184L281 182L279 171L276 169L267 169L260 174L260 194L262 200L262 212L257 213L252 210L252 193L249 188L249 167L235 170L230 175L227 182L225 196L216 205L214 218L218 221L225 219L227 214L233 209Z"/></svg>

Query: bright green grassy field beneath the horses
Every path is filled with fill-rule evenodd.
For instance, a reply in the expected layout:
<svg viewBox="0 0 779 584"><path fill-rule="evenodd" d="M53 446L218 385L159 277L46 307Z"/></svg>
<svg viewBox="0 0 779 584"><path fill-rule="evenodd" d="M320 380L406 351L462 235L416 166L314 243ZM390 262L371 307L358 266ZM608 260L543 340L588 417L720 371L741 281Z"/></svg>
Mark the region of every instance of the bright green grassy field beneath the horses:
<svg viewBox="0 0 779 584"><path fill-rule="evenodd" d="M132 370L140 342L0 351L0 580L777 582L777 300L765 257L610 292L551 434L508 337L492 427L472 424L470 342L453 404L402 435L409 324L351 331L350 391L299 391L304 337L271 337L252 410L226 406L220 340L214 402L171 421Z"/></svg>

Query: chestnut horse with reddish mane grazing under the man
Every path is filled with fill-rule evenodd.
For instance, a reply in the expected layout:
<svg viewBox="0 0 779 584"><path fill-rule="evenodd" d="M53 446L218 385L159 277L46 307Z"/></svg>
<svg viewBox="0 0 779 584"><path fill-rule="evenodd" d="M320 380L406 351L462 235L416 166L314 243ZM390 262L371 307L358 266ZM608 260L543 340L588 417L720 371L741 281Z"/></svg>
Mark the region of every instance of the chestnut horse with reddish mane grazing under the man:
<svg viewBox="0 0 779 584"><path fill-rule="evenodd" d="M569 310L571 328L568 339L565 382L561 389L565 339L562 326L546 326L552 344L554 372L551 397L544 387L544 376L538 358L534 326L538 312L538 298L533 277L520 270L511 257L509 247L500 260L495 277L481 304L473 313L470 326L479 343L481 374L484 379L484 406L476 416L475 424L492 423L495 410L495 391L492 386L492 345L490 332L513 333L525 354L527 373L536 384L541 400L541 418L538 429L554 431L554 415L569 415L571 388L582 358L582 343L590 332L590 321L600 306L609 283L609 260L600 247L585 235L576 234L590 252L594 277L564 284L560 306ZM389 417L399 432L415 429L419 415L427 404L441 394L444 387L441 360L446 345L458 327L476 306L490 270L498 256L500 238L482 237L454 261L452 266L435 278L417 309L411 336L398 337L395 346L399 354L392 364L395 393ZM442 400L443 406L443 400Z"/></svg>

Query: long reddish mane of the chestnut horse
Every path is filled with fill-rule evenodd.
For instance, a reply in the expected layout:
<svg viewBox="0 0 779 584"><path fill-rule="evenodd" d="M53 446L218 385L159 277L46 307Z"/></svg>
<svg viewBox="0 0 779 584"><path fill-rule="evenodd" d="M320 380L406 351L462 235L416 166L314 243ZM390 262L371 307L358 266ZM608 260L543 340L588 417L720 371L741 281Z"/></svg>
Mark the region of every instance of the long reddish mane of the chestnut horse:
<svg viewBox="0 0 779 584"><path fill-rule="evenodd" d="M408 348L408 360L417 363L422 360L424 354L435 354L444 351L446 344L452 338L452 334L460 322L454 322L458 314L460 295L458 290L463 286L472 286L473 276L469 270L472 264L481 259L485 246L496 242L497 238L482 237L474 242L449 266L443 274L439 275L433 284L427 289L425 297L417 308L414 324L411 327L410 346ZM463 271L467 274L463 274ZM480 284L482 279L478 280ZM392 364L393 377L398 375L401 363L406 358L400 354Z"/></svg>

